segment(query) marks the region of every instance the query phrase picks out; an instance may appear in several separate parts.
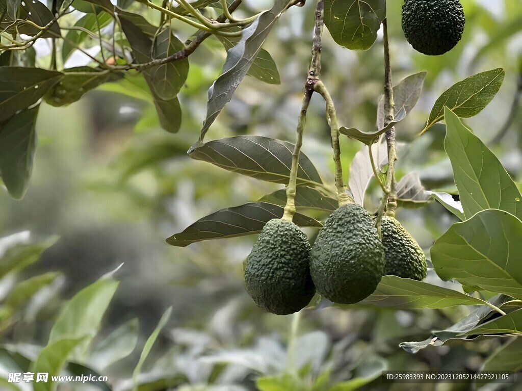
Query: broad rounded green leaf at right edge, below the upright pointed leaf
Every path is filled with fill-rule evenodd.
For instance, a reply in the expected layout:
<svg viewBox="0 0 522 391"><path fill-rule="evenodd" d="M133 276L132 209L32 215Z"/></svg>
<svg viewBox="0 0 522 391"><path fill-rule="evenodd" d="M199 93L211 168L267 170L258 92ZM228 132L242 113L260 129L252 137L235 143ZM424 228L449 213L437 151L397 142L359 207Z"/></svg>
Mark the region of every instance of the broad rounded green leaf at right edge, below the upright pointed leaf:
<svg viewBox="0 0 522 391"><path fill-rule="evenodd" d="M435 241L431 259L443 280L522 299L522 222L497 209L453 224Z"/></svg>

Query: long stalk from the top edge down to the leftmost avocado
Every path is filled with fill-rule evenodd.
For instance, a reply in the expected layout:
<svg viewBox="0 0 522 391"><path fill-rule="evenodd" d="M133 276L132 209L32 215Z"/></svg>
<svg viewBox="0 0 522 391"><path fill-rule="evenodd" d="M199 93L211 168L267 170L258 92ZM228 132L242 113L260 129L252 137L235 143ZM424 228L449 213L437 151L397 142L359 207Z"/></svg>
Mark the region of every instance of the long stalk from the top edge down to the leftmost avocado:
<svg viewBox="0 0 522 391"><path fill-rule="evenodd" d="M292 167L290 169L290 179L287 186L287 203L284 206L284 214L282 219L292 221L295 214L295 194L297 185L297 173L299 169L299 154L301 146L303 145L303 132L306 123L306 111L310 105L310 99L314 93L314 86L319 80L319 73L321 72L321 48L324 26L324 0L317 0L315 8L315 25L314 25L314 41L312 44L312 61L308 69L308 76L304 84L304 97L301 104L301 111L299 113L299 120L297 124L297 137L295 147L292 153Z"/></svg>

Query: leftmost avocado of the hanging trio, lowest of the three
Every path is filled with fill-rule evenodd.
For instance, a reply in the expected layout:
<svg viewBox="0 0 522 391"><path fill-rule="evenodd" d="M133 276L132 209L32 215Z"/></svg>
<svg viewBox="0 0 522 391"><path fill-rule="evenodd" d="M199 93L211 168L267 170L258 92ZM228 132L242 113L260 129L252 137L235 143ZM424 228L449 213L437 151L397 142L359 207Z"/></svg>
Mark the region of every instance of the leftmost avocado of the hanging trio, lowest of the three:
<svg viewBox="0 0 522 391"><path fill-rule="evenodd" d="M272 219L263 227L245 264L245 288L267 311L288 315L314 297L310 243L294 223Z"/></svg>

